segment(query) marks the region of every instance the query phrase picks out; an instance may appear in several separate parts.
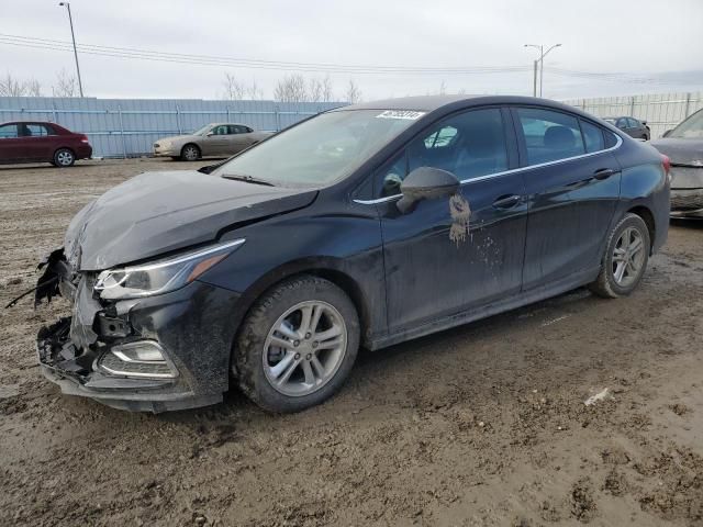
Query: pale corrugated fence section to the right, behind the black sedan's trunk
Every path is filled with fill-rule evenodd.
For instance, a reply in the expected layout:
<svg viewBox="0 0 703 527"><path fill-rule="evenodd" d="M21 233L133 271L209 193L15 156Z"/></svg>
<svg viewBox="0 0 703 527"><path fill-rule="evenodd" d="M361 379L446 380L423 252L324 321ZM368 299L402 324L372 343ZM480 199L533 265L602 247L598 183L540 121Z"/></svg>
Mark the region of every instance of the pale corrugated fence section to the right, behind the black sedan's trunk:
<svg viewBox="0 0 703 527"><path fill-rule="evenodd" d="M563 102L599 117L625 115L647 121L654 139L703 108L703 92L604 97Z"/></svg>

